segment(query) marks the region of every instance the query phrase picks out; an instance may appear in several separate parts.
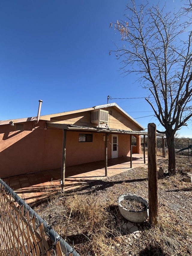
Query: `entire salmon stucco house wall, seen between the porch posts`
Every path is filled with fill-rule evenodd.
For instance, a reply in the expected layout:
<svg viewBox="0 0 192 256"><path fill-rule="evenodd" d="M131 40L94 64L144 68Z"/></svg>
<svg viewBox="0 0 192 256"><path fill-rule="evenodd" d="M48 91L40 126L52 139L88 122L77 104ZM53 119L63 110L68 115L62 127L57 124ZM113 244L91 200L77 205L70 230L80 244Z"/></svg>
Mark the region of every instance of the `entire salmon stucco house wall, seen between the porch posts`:
<svg viewBox="0 0 192 256"><path fill-rule="evenodd" d="M63 131L54 128L44 129L45 121L42 120L36 128L32 121L25 122L23 125L23 131L16 131L16 125L0 126L0 176L61 168ZM104 160L105 134L92 133L93 142L79 142L79 133L83 132L67 131L66 166ZM118 156L129 155L130 135L119 134L118 137ZM107 151L110 159L111 135L108 138ZM140 147L140 136L137 136L137 139L137 147Z"/></svg>

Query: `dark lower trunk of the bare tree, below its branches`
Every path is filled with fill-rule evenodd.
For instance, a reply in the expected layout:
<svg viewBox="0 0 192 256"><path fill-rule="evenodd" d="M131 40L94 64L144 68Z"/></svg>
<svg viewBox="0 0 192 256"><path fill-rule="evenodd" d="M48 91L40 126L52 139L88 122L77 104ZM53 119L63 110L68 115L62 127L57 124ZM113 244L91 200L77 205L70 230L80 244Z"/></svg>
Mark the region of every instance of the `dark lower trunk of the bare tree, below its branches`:
<svg viewBox="0 0 192 256"><path fill-rule="evenodd" d="M167 134L166 134L167 136ZM170 175L176 174L176 158L175 158L175 138L168 136L167 137L167 146L169 153L169 165L168 172Z"/></svg>

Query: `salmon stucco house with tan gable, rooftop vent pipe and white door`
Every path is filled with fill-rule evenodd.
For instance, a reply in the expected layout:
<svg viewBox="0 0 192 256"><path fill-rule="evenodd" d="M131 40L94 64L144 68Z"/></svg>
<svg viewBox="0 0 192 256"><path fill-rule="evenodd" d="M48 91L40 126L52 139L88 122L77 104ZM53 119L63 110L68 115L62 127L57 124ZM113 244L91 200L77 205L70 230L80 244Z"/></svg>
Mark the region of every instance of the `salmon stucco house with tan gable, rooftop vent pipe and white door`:
<svg viewBox="0 0 192 256"><path fill-rule="evenodd" d="M42 101L40 101L41 103ZM46 116L0 121L0 176L141 153L144 128L116 103ZM64 155L65 153L65 155Z"/></svg>

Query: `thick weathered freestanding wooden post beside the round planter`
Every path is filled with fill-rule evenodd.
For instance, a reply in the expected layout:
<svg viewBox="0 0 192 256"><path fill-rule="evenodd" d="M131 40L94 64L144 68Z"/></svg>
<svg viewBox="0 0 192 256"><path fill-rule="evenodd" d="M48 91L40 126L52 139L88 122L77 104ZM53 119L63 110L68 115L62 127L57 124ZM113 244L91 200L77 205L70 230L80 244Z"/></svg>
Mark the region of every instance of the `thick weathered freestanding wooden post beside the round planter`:
<svg viewBox="0 0 192 256"><path fill-rule="evenodd" d="M158 174L156 125L148 124L149 223L158 224Z"/></svg>

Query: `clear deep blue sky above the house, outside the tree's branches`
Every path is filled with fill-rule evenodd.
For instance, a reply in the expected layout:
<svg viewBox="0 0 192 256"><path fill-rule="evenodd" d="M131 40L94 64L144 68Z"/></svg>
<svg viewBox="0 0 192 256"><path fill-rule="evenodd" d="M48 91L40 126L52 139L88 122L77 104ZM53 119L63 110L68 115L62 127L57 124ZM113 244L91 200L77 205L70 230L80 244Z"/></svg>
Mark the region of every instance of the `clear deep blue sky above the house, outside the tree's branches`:
<svg viewBox="0 0 192 256"><path fill-rule="evenodd" d="M106 104L108 95L146 97L137 77L123 77L116 56L109 55L121 43L110 22L123 18L127 3L0 1L0 120L36 116L39 99L41 115L47 115ZM183 3L169 0L167 11ZM162 130L144 98L112 102L145 128L154 122ZM192 137L191 123L179 134Z"/></svg>

